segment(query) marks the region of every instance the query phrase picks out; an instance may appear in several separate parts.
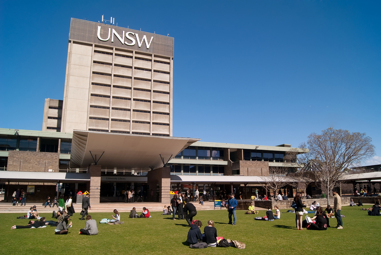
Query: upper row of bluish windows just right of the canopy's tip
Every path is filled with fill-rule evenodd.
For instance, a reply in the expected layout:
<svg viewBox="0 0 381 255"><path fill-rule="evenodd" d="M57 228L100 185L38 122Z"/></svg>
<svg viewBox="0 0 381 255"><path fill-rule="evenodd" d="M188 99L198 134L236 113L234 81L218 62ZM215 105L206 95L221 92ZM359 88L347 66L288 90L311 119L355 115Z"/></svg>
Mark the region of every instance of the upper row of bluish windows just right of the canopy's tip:
<svg viewBox="0 0 381 255"><path fill-rule="evenodd" d="M209 147L195 147L188 146L179 154L175 159L207 159L210 160L224 160L224 149L221 148L209 148Z"/></svg>

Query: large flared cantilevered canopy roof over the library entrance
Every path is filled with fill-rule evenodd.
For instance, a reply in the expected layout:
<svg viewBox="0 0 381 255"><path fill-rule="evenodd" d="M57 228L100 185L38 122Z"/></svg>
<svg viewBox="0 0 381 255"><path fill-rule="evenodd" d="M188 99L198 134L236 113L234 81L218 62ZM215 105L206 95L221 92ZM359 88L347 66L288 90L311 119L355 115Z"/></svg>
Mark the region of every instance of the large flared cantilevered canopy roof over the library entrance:
<svg viewBox="0 0 381 255"><path fill-rule="evenodd" d="M155 169L163 167L160 155L166 163L199 140L74 130L70 168L87 168L99 160L97 164L102 168Z"/></svg>

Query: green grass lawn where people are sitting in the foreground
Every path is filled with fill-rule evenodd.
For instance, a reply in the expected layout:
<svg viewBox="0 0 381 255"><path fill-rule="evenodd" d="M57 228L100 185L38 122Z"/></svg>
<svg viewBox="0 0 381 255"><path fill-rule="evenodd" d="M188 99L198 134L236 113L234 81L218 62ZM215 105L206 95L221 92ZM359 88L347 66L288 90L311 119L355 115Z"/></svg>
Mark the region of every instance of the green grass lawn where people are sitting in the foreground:
<svg viewBox="0 0 381 255"><path fill-rule="evenodd" d="M281 210L286 212L287 210ZM327 231L299 231L295 228L295 214L282 213L280 220L255 221L254 215L237 211L237 225L227 225L226 210L199 211L194 219L205 226L215 221L218 236L244 242L246 249L207 248L190 249L186 244L188 229L185 220L171 220L169 215L152 212L152 218L128 218L121 213L122 225L98 224L96 236L78 235L85 221L79 213L72 217L73 227L67 235L55 235L54 227L14 229L13 225L27 225L28 220L16 219L20 214L0 214L1 254L379 254L381 217L371 217L359 207L343 207L344 229ZM265 211L259 211L259 216ZM42 216L51 220L50 213ZM93 219L110 218L110 213L92 213ZM311 216L311 215L310 215ZM336 226L336 219L330 219ZM203 230L203 227L202 227ZM202 231L203 232L203 231Z"/></svg>

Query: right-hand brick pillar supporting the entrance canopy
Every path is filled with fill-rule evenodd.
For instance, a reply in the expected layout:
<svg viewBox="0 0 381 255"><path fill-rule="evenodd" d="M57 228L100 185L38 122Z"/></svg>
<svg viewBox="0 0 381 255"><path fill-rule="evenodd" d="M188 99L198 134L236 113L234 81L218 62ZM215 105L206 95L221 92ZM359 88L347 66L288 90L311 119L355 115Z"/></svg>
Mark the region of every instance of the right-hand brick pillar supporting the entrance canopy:
<svg viewBox="0 0 381 255"><path fill-rule="evenodd" d="M147 182L150 189L154 190L154 201L157 199L156 187L159 185L159 202L169 204L171 201L171 168L162 167L148 172ZM150 191L150 190L149 190Z"/></svg>

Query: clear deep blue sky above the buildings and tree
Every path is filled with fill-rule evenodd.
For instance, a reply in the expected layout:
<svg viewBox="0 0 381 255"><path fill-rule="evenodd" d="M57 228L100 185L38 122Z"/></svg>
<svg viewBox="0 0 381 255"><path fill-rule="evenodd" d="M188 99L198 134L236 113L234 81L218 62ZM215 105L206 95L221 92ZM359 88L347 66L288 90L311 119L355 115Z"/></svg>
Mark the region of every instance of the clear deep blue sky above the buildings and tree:
<svg viewBox="0 0 381 255"><path fill-rule="evenodd" d="M63 99L70 18L174 37L173 135L298 146L366 133L381 164L380 1L1 1L0 127Z"/></svg>

